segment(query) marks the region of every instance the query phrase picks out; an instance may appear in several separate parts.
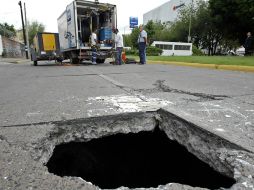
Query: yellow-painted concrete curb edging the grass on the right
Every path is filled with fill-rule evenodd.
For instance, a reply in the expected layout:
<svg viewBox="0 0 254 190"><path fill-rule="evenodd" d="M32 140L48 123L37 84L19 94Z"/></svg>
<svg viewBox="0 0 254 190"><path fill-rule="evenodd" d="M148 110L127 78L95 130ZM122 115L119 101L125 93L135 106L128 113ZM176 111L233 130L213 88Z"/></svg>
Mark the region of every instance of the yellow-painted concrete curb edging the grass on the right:
<svg viewBox="0 0 254 190"><path fill-rule="evenodd" d="M148 64L164 64L164 65L177 65L177 66L188 66L188 67L197 67L197 68L230 70L230 71L254 72L254 67L252 66L201 64L201 63L187 63L187 62L173 62L173 61L148 61Z"/></svg>

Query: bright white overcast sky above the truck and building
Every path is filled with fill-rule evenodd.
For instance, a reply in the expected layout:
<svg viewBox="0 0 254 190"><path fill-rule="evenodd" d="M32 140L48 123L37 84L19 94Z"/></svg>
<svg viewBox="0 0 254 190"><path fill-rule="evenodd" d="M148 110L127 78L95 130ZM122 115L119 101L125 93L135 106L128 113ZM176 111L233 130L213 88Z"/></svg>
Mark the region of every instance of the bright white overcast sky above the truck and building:
<svg viewBox="0 0 254 190"><path fill-rule="evenodd" d="M129 17L138 17L139 24L143 23L143 14L162 5L169 0L99 0L101 3L110 3L117 6L118 28L129 33ZM19 0L1 0L0 23L13 24L21 29L21 15ZM26 4L27 19L39 21L46 26L46 32L58 32L57 18L66 9L72 0L22 0Z"/></svg>

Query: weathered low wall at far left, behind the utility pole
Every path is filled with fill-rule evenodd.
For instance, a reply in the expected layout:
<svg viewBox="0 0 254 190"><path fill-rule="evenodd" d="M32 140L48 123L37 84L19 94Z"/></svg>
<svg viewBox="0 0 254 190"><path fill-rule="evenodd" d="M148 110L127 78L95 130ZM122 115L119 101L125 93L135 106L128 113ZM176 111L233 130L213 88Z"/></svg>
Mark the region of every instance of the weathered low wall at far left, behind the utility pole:
<svg viewBox="0 0 254 190"><path fill-rule="evenodd" d="M3 45L3 51L6 52L5 57L25 57L25 46L24 44L11 40L9 38L6 38L2 36L2 45Z"/></svg>

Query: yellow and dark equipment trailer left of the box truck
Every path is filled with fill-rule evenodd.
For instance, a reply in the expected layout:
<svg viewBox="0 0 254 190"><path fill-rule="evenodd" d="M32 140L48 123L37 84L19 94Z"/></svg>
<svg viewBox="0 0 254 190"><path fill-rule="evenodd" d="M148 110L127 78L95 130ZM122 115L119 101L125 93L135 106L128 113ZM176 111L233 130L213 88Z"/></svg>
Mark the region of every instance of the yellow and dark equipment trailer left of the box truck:
<svg viewBox="0 0 254 190"><path fill-rule="evenodd" d="M40 32L33 39L31 60L37 66L41 60L61 60L59 34Z"/></svg>

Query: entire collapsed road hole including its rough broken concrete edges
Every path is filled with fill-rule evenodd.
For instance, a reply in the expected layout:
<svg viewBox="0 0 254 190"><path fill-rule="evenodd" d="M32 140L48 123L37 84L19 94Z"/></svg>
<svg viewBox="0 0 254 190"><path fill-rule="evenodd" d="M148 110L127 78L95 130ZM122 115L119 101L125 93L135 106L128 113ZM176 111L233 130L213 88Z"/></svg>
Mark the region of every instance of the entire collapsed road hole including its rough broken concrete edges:
<svg viewBox="0 0 254 190"><path fill-rule="evenodd" d="M32 156L65 180L80 177L101 189L237 189L253 181L245 164L253 156L244 148L163 109L51 126Z"/></svg>

